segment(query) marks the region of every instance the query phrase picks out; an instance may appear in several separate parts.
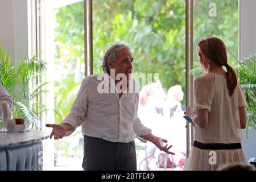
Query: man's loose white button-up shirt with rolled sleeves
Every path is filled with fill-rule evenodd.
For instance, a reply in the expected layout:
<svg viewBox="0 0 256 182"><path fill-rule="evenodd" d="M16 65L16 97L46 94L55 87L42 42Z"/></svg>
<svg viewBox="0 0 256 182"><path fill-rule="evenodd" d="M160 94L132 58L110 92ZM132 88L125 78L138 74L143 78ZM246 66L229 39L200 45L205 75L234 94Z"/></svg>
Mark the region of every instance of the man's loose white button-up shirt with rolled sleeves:
<svg viewBox="0 0 256 182"><path fill-rule="evenodd" d="M103 77L104 89L110 92L99 92L99 78ZM127 91L119 98L113 84L106 73L85 77L70 113L61 123L68 123L74 130L82 125L82 135L110 142L128 143L137 136L150 134L151 129L143 126L137 115L139 93Z"/></svg>

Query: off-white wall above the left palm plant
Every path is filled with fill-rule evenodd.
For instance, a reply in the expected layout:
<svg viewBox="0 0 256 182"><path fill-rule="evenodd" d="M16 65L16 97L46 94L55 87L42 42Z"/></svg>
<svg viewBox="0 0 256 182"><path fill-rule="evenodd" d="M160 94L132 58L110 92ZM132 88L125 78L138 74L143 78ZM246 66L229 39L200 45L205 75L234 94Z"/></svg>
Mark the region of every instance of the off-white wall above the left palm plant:
<svg viewBox="0 0 256 182"><path fill-rule="evenodd" d="M0 0L0 44L12 60L29 55L28 0Z"/></svg>

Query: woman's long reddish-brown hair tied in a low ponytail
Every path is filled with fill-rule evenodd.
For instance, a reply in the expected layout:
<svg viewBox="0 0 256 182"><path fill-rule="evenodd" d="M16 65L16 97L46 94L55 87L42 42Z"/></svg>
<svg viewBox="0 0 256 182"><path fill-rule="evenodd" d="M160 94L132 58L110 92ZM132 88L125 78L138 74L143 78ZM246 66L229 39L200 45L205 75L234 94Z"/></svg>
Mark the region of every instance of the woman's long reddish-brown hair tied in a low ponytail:
<svg viewBox="0 0 256 182"><path fill-rule="evenodd" d="M237 86L237 74L228 64L228 56L225 44L218 38L201 39L197 44L199 47L199 56L207 57L218 66L226 67L226 83L229 96L232 96Z"/></svg>

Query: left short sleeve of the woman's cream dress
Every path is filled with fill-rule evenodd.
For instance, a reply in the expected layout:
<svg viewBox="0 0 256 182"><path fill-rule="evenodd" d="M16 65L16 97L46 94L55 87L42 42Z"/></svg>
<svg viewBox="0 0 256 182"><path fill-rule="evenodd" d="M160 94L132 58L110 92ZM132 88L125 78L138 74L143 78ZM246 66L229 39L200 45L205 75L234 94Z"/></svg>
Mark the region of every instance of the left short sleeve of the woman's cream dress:
<svg viewBox="0 0 256 182"><path fill-rule="evenodd" d="M195 110L207 109L210 112L214 96L213 80L209 76L196 78L194 82Z"/></svg>

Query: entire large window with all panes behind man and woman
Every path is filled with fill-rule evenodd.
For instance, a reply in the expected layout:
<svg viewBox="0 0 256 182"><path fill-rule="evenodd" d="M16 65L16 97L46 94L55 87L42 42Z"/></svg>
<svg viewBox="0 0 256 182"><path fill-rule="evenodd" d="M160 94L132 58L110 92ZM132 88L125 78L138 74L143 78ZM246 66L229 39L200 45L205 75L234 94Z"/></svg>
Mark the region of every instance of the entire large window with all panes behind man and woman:
<svg viewBox="0 0 256 182"><path fill-rule="evenodd" d="M47 79L52 83L49 84L47 104L60 109L60 113L65 117L76 98L84 75L101 73L102 57L109 44L125 42L130 45L134 57L135 79L140 82L139 74L152 74L151 80L141 82L141 92L147 90L145 85L150 85L151 89L155 90L155 117L163 115L162 119L159 119L162 130L154 131L152 123L158 125L158 121L146 121L145 125L151 125L153 133L167 138L170 144L174 145L174 150L178 151L175 159L172 159L175 166L184 165L180 163L184 162L184 156L189 151L188 146L192 143L187 141L190 137L193 141L193 129L190 136L190 127L182 118L182 110L185 105L193 104L190 102L193 93L193 77L190 70L196 65L195 46L200 38L218 36L224 40L229 50L229 60L234 61L234 57L238 57L238 0L214 3L206 0L39 2L40 52L43 59L48 61ZM170 102L164 101L168 89L175 85L180 85L181 91L187 96L180 96L184 97L180 98L181 109L171 109L173 105L167 105L171 101L174 102L173 98ZM174 90L180 90L180 87L172 88L172 93L176 92ZM168 114L161 108L163 105L166 106L164 108L169 107ZM62 120L61 114L52 113L47 117L46 121L54 120L55 123ZM141 117L145 115L142 114ZM166 130L166 135L163 129ZM63 139L55 143L55 151L61 151L59 156L79 157L79 164L76 166L82 169L82 148L79 144L81 131L75 135L75 146L62 142ZM141 149L138 152L138 164L143 159L143 147L145 146L138 146ZM157 152L152 160L158 161ZM152 163L149 163L149 167Z"/></svg>

